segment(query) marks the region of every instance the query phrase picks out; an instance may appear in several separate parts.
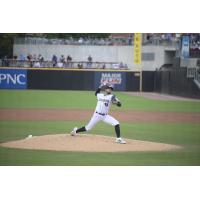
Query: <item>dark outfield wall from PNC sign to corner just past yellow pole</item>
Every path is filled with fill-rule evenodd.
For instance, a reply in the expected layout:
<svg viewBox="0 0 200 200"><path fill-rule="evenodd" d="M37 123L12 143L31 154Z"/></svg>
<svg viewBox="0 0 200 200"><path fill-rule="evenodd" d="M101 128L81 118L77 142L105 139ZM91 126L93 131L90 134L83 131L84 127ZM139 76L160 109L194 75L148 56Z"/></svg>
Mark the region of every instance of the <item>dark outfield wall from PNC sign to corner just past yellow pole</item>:
<svg viewBox="0 0 200 200"><path fill-rule="evenodd" d="M121 70L1 68L1 89L95 90L102 82L116 91L139 91L140 74ZM143 90L153 91L154 72L143 71Z"/></svg>

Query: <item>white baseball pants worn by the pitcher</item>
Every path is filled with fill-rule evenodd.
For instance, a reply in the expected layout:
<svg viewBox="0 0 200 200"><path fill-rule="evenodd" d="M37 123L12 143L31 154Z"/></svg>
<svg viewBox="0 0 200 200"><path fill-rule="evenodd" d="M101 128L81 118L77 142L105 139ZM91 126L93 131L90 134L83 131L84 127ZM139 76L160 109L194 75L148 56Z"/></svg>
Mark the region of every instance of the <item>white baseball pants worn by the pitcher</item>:
<svg viewBox="0 0 200 200"><path fill-rule="evenodd" d="M93 128L93 126L95 124L97 124L98 122L103 121L107 124L110 124L112 126L116 126L117 124L119 124L119 122L112 116L110 115L100 115L98 113L94 113L90 122L85 126L86 131L89 131Z"/></svg>

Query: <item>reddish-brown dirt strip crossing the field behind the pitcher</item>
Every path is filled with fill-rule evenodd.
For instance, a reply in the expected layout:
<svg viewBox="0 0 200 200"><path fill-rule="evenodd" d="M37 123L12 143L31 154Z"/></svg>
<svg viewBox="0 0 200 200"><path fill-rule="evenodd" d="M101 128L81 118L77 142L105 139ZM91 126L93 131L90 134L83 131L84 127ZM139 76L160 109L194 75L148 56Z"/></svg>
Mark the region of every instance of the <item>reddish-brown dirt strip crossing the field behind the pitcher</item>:
<svg viewBox="0 0 200 200"><path fill-rule="evenodd" d="M89 121L94 110L73 109L0 109L0 120L63 120ZM111 111L110 114L121 122L200 122L200 113Z"/></svg>

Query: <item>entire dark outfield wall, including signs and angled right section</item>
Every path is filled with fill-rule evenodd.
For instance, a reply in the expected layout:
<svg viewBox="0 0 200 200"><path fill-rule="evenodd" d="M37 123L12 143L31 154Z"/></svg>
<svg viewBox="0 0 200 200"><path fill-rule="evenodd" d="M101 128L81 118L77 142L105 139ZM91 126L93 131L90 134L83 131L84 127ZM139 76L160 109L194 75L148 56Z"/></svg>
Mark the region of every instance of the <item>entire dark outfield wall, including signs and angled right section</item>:
<svg viewBox="0 0 200 200"><path fill-rule="evenodd" d="M95 90L101 82L116 91L139 91L140 74L120 70L0 68L0 89ZM200 98L200 90L186 68L142 72L142 91Z"/></svg>

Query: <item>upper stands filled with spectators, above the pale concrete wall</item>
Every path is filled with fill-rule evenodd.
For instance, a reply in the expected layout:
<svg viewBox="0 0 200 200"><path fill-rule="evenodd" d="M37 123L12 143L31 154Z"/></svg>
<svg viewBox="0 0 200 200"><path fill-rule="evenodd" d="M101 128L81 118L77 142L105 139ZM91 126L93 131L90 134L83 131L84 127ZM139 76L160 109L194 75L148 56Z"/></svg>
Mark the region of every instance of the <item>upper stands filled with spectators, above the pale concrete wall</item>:
<svg viewBox="0 0 200 200"><path fill-rule="evenodd" d="M144 45L173 45L179 42L179 35L172 33L145 33L143 38ZM113 46L113 45L133 45L134 34L111 34L109 38L83 38L79 39L46 39L46 38L15 38L14 44L52 44L52 45L97 45L97 46Z"/></svg>

